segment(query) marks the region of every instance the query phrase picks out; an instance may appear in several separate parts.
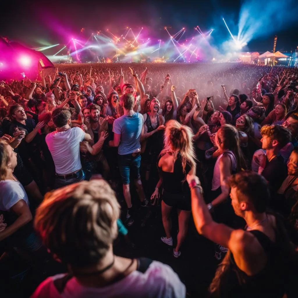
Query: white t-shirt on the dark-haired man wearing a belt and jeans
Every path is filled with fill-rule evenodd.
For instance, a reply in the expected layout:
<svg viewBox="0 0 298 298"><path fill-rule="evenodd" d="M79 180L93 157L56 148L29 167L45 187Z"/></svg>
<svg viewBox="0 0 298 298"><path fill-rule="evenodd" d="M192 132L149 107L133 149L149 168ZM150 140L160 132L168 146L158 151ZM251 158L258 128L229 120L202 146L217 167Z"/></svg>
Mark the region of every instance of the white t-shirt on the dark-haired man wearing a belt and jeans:
<svg viewBox="0 0 298 298"><path fill-rule="evenodd" d="M80 161L80 142L85 133L79 127L67 131L53 131L46 136L46 144L52 154L56 173L66 175L82 168Z"/></svg>

